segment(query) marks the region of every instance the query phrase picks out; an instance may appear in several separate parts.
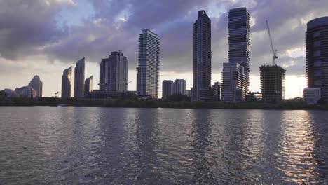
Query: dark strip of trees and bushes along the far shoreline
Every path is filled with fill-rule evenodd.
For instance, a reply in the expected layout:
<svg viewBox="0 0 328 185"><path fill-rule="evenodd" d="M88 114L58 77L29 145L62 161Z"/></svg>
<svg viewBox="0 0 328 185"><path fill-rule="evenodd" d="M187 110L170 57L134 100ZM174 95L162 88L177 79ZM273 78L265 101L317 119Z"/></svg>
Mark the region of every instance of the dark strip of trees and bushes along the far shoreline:
<svg viewBox="0 0 328 185"><path fill-rule="evenodd" d="M328 110L328 104L308 104L303 100L283 102L190 102L172 100L83 100L57 97L1 97L0 106L74 106L74 107L139 107L139 108L182 108L182 109L287 109Z"/></svg>

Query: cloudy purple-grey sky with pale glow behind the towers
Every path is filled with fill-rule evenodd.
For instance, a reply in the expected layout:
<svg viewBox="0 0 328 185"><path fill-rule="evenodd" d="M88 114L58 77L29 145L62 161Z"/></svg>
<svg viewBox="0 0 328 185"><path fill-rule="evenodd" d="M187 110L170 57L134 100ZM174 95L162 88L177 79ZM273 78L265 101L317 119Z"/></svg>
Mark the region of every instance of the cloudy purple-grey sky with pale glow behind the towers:
<svg viewBox="0 0 328 185"><path fill-rule="evenodd" d="M128 57L128 90L136 89L138 36L158 34L161 81L186 79L193 85L193 22L205 10L212 22L212 83L228 62L228 10L250 13L250 90L261 91L259 66L272 64L266 20L287 70L285 97L301 97L306 87L306 23L328 16L327 0L1 0L0 89L43 81L43 96L61 90L64 69L86 57L86 78L98 89L99 64L111 51ZM74 78L74 75L73 75ZM73 80L74 83L74 80ZM73 92L73 91L72 91Z"/></svg>

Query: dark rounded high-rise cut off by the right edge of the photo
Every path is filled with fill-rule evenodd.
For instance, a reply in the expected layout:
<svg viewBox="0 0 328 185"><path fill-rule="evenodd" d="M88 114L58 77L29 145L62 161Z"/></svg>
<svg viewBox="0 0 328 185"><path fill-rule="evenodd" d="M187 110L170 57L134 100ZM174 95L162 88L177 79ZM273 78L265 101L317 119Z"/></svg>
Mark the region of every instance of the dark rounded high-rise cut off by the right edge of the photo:
<svg viewBox="0 0 328 185"><path fill-rule="evenodd" d="M328 100L328 17L307 24L306 78L308 88L320 88L321 97Z"/></svg>

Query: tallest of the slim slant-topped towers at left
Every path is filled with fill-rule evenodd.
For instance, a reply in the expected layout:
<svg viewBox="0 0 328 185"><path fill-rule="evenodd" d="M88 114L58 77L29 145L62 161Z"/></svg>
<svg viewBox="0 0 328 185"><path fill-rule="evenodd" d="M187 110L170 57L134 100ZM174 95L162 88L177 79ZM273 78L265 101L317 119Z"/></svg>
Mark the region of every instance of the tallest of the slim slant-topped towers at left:
<svg viewBox="0 0 328 185"><path fill-rule="evenodd" d="M74 97L84 97L84 57L76 62L74 68Z"/></svg>

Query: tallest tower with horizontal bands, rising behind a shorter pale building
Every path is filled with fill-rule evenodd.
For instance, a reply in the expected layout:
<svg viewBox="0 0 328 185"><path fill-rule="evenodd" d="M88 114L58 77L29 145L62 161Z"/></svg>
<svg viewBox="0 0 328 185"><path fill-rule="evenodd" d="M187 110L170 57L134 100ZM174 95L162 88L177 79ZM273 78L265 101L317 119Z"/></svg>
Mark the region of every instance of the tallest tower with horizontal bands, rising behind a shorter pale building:
<svg viewBox="0 0 328 185"><path fill-rule="evenodd" d="M228 59L230 63L238 63L242 66L240 71L240 87L229 85L231 92L239 92L240 97L233 97L233 100L245 100L250 85L250 14L246 8L235 8L228 13ZM237 84L235 84L237 85ZM239 85L239 83L238 83ZM235 94L239 96L239 93ZM225 97L222 97L226 99ZM231 100L231 98L228 98Z"/></svg>

